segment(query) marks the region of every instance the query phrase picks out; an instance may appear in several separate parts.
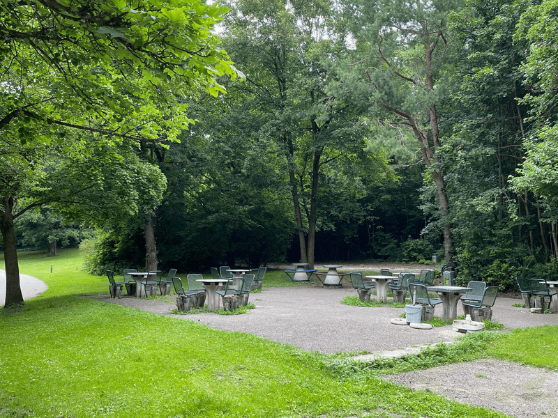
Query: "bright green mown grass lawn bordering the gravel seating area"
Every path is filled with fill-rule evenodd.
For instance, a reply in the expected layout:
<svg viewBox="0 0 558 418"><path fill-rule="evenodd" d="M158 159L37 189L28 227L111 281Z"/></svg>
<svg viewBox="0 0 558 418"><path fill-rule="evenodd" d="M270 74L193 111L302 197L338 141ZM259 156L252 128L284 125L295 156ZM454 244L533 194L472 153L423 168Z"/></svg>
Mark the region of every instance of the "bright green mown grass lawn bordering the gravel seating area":
<svg viewBox="0 0 558 418"><path fill-rule="evenodd" d="M108 293L81 264L75 250L20 254L21 272L49 289L0 309L0 417L504 417L378 376L486 355L558 369L557 327L363 364L81 297ZM265 286L290 286L282 276Z"/></svg>

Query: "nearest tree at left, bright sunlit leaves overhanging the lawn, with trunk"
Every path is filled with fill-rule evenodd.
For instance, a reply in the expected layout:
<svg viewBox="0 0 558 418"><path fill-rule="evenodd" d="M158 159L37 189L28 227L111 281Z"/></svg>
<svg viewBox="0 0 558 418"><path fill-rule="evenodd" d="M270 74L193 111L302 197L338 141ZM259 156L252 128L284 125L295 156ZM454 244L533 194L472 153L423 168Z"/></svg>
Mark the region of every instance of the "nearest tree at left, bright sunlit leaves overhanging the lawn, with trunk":
<svg viewBox="0 0 558 418"><path fill-rule="evenodd" d="M187 101L199 91L224 92L217 77L236 76L211 32L226 11L197 0L0 4L6 306L23 300L13 219L45 203L16 213L16 202L40 187L43 157L53 146L88 155L92 148L77 141L84 132L96 134L98 148L174 141L192 122Z"/></svg>

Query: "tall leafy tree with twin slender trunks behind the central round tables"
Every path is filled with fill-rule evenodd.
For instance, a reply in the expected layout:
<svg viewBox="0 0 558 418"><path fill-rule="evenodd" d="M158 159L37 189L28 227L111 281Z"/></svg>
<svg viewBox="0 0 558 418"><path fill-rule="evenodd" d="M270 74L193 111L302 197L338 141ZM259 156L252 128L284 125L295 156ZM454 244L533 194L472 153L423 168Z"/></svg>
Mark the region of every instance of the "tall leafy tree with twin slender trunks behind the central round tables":
<svg viewBox="0 0 558 418"><path fill-rule="evenodd" d="M354 125L359 105L329 91L338 84L331 61L342 52L333 33L331 2L236 1L225 20L223 42L246 73L244 109L261 121L253 135L273 139L285 158L301 261L315 262L319 218L362 192L369 169L389 176L382 155L365 153L367 129ZM232 86L231 88L235 88ZM363 165L355 170L355 161ZM335 189L322 187L329 185ZM335 195L320 204L326 193Z"/></svg>

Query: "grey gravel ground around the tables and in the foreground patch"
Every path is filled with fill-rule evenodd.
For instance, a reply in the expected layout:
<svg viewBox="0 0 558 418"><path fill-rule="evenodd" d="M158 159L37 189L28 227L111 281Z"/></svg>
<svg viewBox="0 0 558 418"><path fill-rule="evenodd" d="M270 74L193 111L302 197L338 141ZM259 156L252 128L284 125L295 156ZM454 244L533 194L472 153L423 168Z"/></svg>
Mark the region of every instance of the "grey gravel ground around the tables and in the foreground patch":
<svg viewBox="0 0 558 418"><path fill-rule="evenodd" d="M379 270L385 265L343 265L347 270ZM275 267L275 266L274 266ZM283 266L281 266L283 267ZM286 267L286 266L285 266ZM291 267L290 265L288 266ZM317 266L322 270L322 266ZM418 271L423 265L391 265L392 271ZM377 355L414 353L420 346L448 342L460 336L451 325L432 330L414 330L393 325L392 318L400 317L402 308L361 308L340 304L347 295L356 295L347 284L342 288L296 286L265 288L250 295L255 304L246 315L223 316L197 314L175 316L195 320L218 330L250 332L266 339L287 343L303 350L320 353L354 353L366 351L370 355L357 358L366 361ZM98 300L174 316L175 307L169 302L122 297L111 300L108 294L91 295ZM527 309L513 307L517 299L498 297L492 320L502 323L506 330L538 325L558 325L558 315L531 314ZM435 312L442 314L441 309ZM459 305L458 315L462 315ZM395 384L417 390L429 390L446 398L471 405L504 412L511 417L558 417L558 373L525 364L483 359L477 362L450 364L424 371L385 376Z"/></svg>

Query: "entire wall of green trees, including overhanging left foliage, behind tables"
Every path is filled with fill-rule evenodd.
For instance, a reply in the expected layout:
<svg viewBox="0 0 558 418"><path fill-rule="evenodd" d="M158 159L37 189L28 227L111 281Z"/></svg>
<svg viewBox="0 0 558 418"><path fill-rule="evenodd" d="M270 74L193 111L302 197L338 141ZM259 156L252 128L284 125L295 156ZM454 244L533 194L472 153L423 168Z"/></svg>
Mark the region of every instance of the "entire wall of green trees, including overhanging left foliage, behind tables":
<svg viewBox="0 0 558 418"><path fill-rule="evenodd" d="M1 129L28 174L2 225L55 202L103 231L98 271L442 247L503 288L555 268L556 0L234 1L220 38L243 81L206 30L225 10L192 4L6 20ZM12 29L29 17L40 36ZM34 101L23 51L46 63Z"/></svg>

